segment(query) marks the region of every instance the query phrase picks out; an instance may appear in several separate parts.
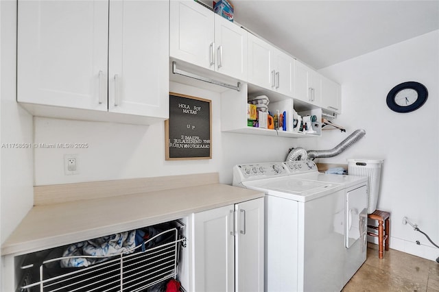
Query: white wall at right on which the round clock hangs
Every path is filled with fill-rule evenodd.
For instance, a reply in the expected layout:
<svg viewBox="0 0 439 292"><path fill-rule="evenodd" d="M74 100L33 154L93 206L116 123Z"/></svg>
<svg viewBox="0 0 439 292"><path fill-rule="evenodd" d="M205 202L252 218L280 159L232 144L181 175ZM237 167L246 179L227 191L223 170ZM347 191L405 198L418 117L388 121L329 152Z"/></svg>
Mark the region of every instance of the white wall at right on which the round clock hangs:
<svg viewBox="0 0 439 292"><path fill-rule="evenodd" d="M439 244L439 31L412 38L321 70L342 84L343 114L334 123L347 133L323 131L320 149L331 149L356 129L366 136L334 158L384 159L378 208L391 214L390 246L432 260L439 256L423 234L403 225L407 216ZM427 86L425 105L410 113L390 110L385 102L396 84ZM421 245L416 245L415 241Z"/></svg>

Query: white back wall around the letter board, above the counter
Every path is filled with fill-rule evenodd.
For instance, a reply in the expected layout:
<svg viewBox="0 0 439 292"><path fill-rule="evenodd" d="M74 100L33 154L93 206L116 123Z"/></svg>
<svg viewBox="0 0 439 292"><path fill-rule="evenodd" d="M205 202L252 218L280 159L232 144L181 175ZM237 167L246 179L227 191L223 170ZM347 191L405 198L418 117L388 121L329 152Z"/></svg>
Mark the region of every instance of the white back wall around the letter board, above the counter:
<svg viewBox="0 0 439 292"><path fill-rule="evenodd" d="M284 160L289 147L316 145L316 138L291 139L221 132L219 93L171 82L169 90L212 106L212 159L165 160L164 123L150 126L36 117L37 144L88 143L86 149L36 148L35 184L64 184L162 175L219 172L231 184L232 167L244 162ZM64 154L78 155L78 175L64 175Z"/></svg>

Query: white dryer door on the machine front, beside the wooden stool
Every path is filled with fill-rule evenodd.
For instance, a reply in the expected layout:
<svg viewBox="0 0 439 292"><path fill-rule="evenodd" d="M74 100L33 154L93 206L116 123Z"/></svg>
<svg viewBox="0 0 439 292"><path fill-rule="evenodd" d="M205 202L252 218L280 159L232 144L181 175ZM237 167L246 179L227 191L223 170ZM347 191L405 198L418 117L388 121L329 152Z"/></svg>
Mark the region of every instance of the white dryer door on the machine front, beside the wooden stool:
<svg viewBox="0 0 439 292"><path fill-rule="evenodd" d="M345 246L351 247L367 232L368 195L366 186L346 192L346 232Z"/></svg>

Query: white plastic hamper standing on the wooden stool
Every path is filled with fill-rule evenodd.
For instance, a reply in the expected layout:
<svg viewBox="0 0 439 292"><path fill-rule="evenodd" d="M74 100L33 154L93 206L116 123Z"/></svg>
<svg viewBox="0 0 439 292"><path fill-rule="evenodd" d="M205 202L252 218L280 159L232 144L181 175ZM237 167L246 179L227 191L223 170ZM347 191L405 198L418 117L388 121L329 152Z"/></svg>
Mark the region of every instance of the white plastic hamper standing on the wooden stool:
<svg viewBox="0 0 439 292"><path fill-rule="evenodd" d="M377 210L379 180L384 160L348 159L348 174L368 177L368 214Z"/></svg>

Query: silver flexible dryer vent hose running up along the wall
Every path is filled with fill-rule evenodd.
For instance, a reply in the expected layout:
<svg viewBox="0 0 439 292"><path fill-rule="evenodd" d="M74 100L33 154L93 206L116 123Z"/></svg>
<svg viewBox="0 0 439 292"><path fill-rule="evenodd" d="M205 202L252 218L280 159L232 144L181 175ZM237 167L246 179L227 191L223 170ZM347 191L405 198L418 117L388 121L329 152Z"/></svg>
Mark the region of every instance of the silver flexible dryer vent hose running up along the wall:
<svg viewBox="0 0 439 292"><path fill-rule="evenodd" d="M339 145L335 146L331 150L309 150L306 151L303 148L294 148L292 151L289 152L287 156L287 161L294 161L294 160L307 160L307 159L314 159L314 158L327 158L327 157L333 157L337 156L338 154L342 153L346 148L353 145L353 143L357 142L360 138L363 138L363 136L366 135L366 131L359 129L355 130L351 135L349 135L346 139L342 141ZM306 151L306 154L305 152Z"/></svg>

